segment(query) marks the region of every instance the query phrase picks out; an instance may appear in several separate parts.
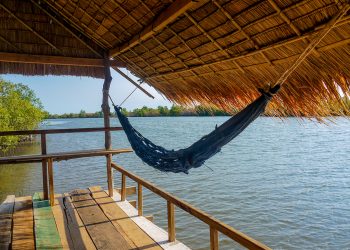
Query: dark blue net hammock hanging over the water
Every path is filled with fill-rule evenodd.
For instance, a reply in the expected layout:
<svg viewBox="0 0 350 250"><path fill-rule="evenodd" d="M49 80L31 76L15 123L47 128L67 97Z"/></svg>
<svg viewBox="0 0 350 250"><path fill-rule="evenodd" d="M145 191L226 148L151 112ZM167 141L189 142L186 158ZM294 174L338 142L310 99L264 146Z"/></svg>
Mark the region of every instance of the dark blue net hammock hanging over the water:
<svg viewBox="0 0 350 250"><path fill-rule="evenodd" d="M198 168L221 148L239 135L250 123L265 111L265 107L272 96L279 90L277 85L268 92L259 89L261 96L249 104L245 109L231 117L214 131L202 137L188 148L167 150L153 144L133 128L121 108L114 106L119 121L127 135L131 147L136 155L145 163L164 172L184 172L188 174L191 168Z"/></svg>

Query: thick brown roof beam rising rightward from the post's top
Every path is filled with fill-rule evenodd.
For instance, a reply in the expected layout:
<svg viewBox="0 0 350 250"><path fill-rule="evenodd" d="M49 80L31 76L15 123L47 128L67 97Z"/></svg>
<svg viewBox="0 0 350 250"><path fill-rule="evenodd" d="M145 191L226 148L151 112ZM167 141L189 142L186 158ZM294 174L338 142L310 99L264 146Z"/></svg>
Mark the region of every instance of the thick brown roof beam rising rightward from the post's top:
<svg viewBox="0 0 350 250"><path fill-rule="evenodd" d="M146 26L139 34L130 39L129 42L113 48L110 55L115 57L124 51L134 47L139 42L151 37L156 32L163 29L177 17L185 13L193 4L192 0L176 0L166 10L164 10L157 18Z"/></svg>

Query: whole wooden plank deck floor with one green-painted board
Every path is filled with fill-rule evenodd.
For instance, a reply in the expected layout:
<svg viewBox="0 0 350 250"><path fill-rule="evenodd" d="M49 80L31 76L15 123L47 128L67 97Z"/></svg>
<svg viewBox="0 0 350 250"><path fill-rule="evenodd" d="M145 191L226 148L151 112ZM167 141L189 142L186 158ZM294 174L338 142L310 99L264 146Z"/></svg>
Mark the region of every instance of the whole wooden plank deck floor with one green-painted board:
<svg viewBox="0 0 350 250"><path fill-rule="evenodd" d="M133 189L130 189L133 190ZM0 205L0 249L189 249L128 201L100 187L55 195L9 195Z"/></svg>

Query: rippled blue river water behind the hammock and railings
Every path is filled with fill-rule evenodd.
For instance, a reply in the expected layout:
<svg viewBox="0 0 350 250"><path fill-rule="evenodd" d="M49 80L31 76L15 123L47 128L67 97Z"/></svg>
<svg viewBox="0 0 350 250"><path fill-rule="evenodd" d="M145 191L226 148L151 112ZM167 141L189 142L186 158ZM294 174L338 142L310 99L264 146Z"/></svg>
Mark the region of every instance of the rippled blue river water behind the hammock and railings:
<svg viewBox="0 0 350 250"><path fill-rule="evenodd" d="M131 118L166 148L190 145L227 117ZM114 161L274 249L350 249L350 121L320 125L294 118L259 118L221 153L189 175L162 173L134 154ZM117 126L116 119L112 120ZM49 120L43 128L102 126L102 119ZM48 136L48 152L103 148L102 133ZM113 146L129 147L123 132ZM18 154L39 153L40 145ZM0 166L0 200L41 190L41 165ZM54 166L56 192L106 187L103 157ZM115 174L116 185L120 176ZM128 180L128 184L132 185ZM133 199L130 197L130 199ZM145 214L166 228L166 202L145 190ZM193 249L209 248L207 226L176 210L177 237ZM220 249L237 249L220 237Z"/></svg>

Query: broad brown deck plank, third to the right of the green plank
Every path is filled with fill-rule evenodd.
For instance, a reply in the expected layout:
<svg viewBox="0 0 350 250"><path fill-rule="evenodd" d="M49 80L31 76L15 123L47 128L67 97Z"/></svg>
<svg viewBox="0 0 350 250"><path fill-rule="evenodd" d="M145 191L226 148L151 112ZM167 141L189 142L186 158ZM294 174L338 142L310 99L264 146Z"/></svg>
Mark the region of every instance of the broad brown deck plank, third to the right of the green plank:
<svg viewBox="0 0 350 250"><path fill-rule="evenodd" d="M108 220L88 190L75 190L71 198L97 249L130 249L130 245Z"/></svg>

